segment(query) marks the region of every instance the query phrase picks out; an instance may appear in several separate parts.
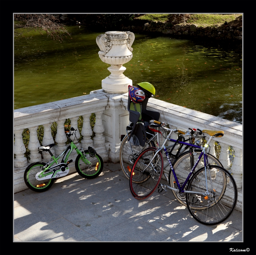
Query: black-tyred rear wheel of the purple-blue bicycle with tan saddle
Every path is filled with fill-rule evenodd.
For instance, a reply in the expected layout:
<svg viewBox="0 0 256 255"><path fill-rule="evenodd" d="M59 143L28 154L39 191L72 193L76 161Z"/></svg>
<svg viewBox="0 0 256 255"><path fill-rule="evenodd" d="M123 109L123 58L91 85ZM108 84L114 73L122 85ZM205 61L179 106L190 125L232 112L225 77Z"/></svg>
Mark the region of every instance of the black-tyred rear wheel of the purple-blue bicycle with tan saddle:
<svg viewBox="0 0 256 255"><path fill-rule="evenodd" d="M214 173L214 174L213 174ZM226 169L210 165L209 169L199 169L191 178L188 190L205 193L186 193L186 202L190 214L200 223L216 225L225 221L233 212L237 202L236 182Z"/></svg>

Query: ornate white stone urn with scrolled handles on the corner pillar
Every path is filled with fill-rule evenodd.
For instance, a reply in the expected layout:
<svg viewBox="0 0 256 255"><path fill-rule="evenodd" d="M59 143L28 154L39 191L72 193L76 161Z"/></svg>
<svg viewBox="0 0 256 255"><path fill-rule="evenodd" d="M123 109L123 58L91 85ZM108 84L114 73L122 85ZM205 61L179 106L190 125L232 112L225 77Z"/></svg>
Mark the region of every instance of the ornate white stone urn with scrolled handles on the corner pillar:
<svg viewBox="0 0 256 255"><path fill-rule="evenodd" d="M123 64L132 59L132 43L134 41L132 32L110 31L100 34L96 42L100 48L98 52L100 59L111 66L108 71L111 74L101 81L103 90L111 94L122 94L128 92L128 85L132 80L125 77L123 72L126 68Z"/></svg>

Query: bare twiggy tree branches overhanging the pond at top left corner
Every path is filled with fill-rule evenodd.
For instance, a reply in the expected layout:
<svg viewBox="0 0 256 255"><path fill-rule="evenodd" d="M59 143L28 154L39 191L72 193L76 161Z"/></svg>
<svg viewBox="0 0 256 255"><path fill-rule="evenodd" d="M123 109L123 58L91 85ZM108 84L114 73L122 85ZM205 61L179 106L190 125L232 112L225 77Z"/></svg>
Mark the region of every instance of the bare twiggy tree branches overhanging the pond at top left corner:
<svg viewBox="0 0 256 255"><path fill-rule="evenodd" d="M60 42L63 36L67 38L66 34L71 36L63 27L65 25L58 24L59 19L52 14L14 14L14 20L20 21L19 24L14 24L14 38L23 37L24 33L31 30L40 34L45 31L47 36Z"/></svg>

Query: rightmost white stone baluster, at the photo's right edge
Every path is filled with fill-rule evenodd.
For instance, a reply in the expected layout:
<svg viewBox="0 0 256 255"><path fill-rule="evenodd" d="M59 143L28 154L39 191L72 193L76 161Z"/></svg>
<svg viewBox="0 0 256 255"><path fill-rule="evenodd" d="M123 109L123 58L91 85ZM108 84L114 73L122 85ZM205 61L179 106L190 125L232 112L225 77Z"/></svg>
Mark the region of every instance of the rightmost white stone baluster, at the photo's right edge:
<svg viewBox="0 0 256 255"><path fill-rule="evenodd" d="M236 181L238 189L242 188L243 183L243 151L239 148L234 148L235 157L231 167L231 173Z"/></svg>

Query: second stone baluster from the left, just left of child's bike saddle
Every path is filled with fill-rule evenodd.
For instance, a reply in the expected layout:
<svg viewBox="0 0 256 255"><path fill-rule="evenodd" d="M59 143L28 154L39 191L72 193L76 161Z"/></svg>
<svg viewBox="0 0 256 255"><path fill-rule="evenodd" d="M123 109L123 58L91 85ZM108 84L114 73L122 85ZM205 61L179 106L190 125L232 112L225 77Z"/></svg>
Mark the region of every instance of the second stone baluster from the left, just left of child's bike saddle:
<svg viewBox="0 0 256 255"><path fill-rule="evenodd" d="M29 163L42 161L41 154L38 151L38 147L40 147L40 143L37 138L37 129L38 129L38 126L29 128L29 131L30 131L29 143L28 143L28 149L30 150L30 154L29 154L30 159L28 160Z"/></svg>

